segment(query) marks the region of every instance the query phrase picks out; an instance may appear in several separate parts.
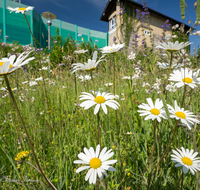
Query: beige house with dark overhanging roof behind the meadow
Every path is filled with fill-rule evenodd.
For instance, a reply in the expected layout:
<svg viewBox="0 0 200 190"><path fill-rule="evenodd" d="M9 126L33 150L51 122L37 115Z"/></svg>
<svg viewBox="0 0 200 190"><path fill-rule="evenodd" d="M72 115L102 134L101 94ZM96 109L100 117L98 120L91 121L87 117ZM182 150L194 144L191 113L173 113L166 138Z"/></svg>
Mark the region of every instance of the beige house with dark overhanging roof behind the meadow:
<svg viewBox="0 0 200 190"><path fill-rule="evenodd" d="M127 24L123 17L124 12L127 13L128 18L132 18L131 24L134 26L131 28L131 31L126 31L125 29ZM125 42L125 37L127 37L129 50L132 49L131 46L133 44L137 46L137 49L140 49L143 45L155 47L162 39L163 28L167 29L165 34L172 34L172 26L176 24L181 26L182 24L173 18L132 0L108 0L100 20L108 22L108 44L112 46L115 40L117 43ZM189 29L188 25L184 26L185 31ZM127 33L129 34L127 35ZM189 32L187 35L189 35ZM145 39L145 44L143 39Z"/></svg>

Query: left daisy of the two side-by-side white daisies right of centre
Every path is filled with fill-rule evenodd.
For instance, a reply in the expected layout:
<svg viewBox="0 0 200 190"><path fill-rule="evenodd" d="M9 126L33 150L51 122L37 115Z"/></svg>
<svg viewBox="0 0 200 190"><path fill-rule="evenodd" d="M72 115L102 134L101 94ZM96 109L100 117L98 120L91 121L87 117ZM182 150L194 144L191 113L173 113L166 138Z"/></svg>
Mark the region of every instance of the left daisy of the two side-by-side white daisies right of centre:
<svg viewBox="0 0 200 190"><path fill-rule="evenodd" d="M159 100L159 98L156 99L155 105L153 104L153 101L151 98L147 98L148 104L142 103L139 105L139 108L142 108L144 110L138 110L140 116L146 116L145 120L148 119L157 119L158 122L161 122L161 117L163 119L167 119L165 110L163 109L163 102L162 100Z"/></svg>

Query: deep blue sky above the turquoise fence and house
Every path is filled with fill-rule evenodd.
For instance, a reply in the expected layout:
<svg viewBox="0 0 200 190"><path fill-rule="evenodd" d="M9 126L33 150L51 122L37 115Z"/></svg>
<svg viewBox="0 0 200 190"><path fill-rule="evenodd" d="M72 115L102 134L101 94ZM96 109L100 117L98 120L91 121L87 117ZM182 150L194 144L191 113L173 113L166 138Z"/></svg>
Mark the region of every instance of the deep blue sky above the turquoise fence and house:
<svg viewBox="0 0 200 190"><path fill-rule="evenodd" d="M142 4L143 0L135 0ZM187 4L185 23L191 19L190 26L194 26L196 12L194 2L196 0L185 0ZM101 14L106 6L107 0L21 0L25 5L34 6L38 13L45 11L56 14L57 19L77 24L92 30L108 32L108 23L100 21ZM146 0L147 7L154 9L166 16L182 22L179 0ZM195 44L195 36L190 37ZM199 44L199 37L197 38Z"/></svg>

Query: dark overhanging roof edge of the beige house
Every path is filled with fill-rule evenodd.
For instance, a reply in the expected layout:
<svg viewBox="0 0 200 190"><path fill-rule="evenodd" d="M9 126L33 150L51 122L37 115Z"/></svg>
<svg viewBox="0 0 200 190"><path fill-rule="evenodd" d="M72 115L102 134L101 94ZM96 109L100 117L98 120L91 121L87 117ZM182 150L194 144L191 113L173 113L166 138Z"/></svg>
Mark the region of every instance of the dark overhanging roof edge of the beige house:
<svg viewBox="0 0 200 190"><path fill-rule="evenodd" d="M113 10L113 8L115 8L115 10L116 10L116 2L117 1L121 1L121 2L125 2L126 1L126 2L130 2L130 3L134 4L134 5L137 5L139 7L143 7L142 4L139 4L139 3L135 2L135 1L132 1L132 0L108 0L108 2L106 4L106 7L104 8L104 11L103 11L103 13L101 15L100 20L108 22L108 18L110 16L110 14L112 13L111 11ZM148 10L150 12L152 12L152 13L158 14L159 16L162 16L162 17L164 17L166 19L171 20L171 21L175 22L176 24L180 24L180 25L182 24L182 22L177 21L177 20L175 20L175 19L173 19L173 18L171 18L169 16L166 16L166 15L164 15L162 13L159 13L159 12L153 10L153 9L148 8ZM192 28L192 27L190 27L189 25L186 25L186 24L185 24L185 27L186 27L187 30L189 30L189 28Z"/></svg>

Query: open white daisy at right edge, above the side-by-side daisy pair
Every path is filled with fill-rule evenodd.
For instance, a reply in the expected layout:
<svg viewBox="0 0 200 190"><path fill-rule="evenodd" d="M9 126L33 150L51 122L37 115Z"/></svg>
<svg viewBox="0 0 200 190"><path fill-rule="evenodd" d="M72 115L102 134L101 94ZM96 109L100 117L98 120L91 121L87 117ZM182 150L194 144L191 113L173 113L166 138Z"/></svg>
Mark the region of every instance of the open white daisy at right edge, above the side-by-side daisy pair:
<svg viewBox="0 0 200 190"><path fill-rule="evenodd" d="M175 86L180 88L184 86L184 83L191 88L197 87L196 84L200 83L200 78L197 78L199 75L199 70L194 72L192 70L189 71L188 68L181 68L180 70L174 70L173 73L170 74L169 81L177 82Z"/></svg>

